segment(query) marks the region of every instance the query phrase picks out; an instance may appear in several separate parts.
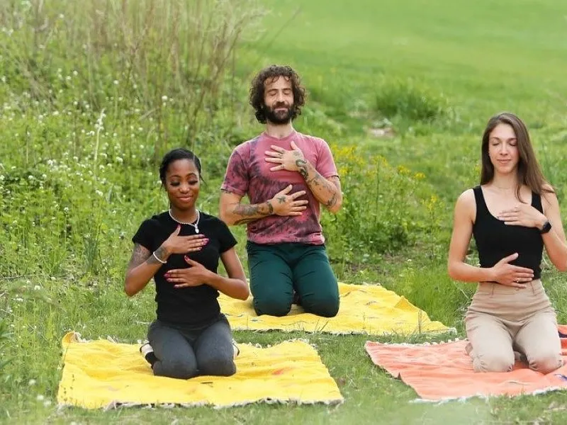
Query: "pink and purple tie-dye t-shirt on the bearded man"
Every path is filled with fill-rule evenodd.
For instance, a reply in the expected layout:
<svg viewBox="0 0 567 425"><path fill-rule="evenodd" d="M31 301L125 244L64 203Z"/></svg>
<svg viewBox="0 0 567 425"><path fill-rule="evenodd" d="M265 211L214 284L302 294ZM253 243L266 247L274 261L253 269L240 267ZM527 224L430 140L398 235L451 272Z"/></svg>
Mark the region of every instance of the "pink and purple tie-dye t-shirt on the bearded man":
<svg viewBox="0 0 567 425"><path fill-rule="evenodd" d="M320 205L313 196L307 183L297 171L270 171L276 166L266 162L265 152L271 145L291 150L291 141L296 145L317 171L325 178L338 176L335 161L327 142L318 137L303 135L293 131L283 139L277 139L262 133L252 140L235 147L228 160L225 180L221 188L224 191L248 196L251 204L264 203L289 184L293 185L290 193L305 191L299 199L309 201L307 210L298 216L268 215L247 225L248 240L257 244L279 244L282 242L300 242L320 245L325 242L319 222Z"/></svg>

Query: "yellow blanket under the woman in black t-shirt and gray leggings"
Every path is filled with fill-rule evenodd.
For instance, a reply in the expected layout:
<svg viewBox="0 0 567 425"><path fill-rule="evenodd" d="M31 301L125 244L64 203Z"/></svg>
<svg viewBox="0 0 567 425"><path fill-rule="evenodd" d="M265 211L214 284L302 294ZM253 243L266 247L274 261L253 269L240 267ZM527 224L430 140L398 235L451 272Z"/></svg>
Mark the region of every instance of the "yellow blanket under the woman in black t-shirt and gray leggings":
<svg viewBox="0 0 567 425"><path fill-rule="evenodd" d="M315 348L298 340L269 348L241 344L235 375L190 380L152 375L135 345L104 339L83 341L70 332L62 346L60 405L87 409L119 404L228 407L261 401L330 404L343 400Z"/></svg>

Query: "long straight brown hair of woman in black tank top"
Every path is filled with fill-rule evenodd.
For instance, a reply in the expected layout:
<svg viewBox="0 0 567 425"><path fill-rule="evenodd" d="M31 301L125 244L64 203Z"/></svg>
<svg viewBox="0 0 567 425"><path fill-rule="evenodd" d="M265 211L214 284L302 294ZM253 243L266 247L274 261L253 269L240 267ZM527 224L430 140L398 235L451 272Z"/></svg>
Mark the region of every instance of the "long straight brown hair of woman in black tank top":
<svg viewBox="0 0 567 425"><path fill-rule="evenodd" d="M481 146L482 152L482 168L481 168L481 184L486 184L492 181L494 177L494 166L490 162L488 156L488 140L490 133L499 124L507 124L512 127L516 135L518 153L520 160L517 165L517 188L516 197L520 199L520 188L522 185L528 186L534 193L541 195L541 193L553 193L554 190L545 181L544 175L541 173L541 168L537 162L532 142L529 140L529 133L526 125L520 118L513 113L503 112L494 115L490 120L483 133L483 144Z"/></svg>

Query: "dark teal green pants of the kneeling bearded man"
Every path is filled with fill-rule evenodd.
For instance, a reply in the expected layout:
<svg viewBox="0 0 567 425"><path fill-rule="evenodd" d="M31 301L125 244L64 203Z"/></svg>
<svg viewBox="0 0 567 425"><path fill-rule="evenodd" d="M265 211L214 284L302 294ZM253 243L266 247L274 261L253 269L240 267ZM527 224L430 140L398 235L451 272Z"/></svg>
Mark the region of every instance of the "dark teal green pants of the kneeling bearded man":
<svg viewBox="0 0 567 425"><path fill-rule="evenodd" d="M339 287L324 245L248 242L246 249L256 314L285 316L296 290L305 312L337 315Z"/></svg>

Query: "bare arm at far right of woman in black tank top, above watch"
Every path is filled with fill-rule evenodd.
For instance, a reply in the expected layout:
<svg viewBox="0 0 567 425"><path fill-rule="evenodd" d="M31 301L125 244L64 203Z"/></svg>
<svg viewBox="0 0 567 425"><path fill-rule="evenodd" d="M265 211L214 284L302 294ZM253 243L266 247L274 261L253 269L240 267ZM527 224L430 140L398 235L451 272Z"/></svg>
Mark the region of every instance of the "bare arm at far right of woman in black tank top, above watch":
<svg viewBox="0 0 567 425"><path fill-rule="evenodd" d="M557 196L555 193L546 193L542 196L542 200L544 201L545 219L538 227L541 229L546 220L551 223L551 230L541 235L544 239L545 250L558 271L567 271L567 243Z"/></svg>

